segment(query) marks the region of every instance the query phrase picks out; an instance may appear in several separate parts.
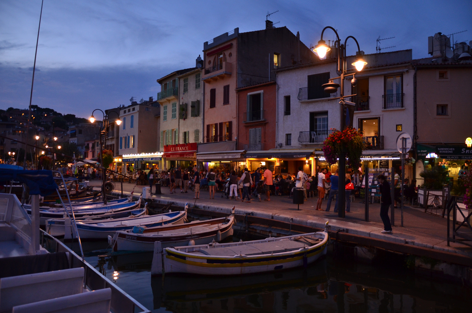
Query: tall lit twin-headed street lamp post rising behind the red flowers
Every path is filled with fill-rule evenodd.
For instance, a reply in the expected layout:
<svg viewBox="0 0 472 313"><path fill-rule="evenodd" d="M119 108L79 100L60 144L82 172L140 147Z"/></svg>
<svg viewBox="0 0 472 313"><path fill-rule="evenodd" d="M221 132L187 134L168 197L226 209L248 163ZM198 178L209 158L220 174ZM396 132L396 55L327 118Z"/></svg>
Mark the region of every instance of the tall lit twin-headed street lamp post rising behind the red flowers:
<svg viewBox="0 0 472 313"><path fill-rule="evenodd" d="M339 104L341 104L341 130L344 130L346 127L352 127L351 123L351 118L353 113L349 113L349 104L346 104L345 97L344 96L344 80L347 77L351 77L351 86L355 86L357 84L357 79L355 78L355 72L351 74L346 75L347 71L347 64L346 64L346 43L349 38L354 39L355 43L357 44L357 52L356 52L356 57L355 61L352 62L351 64L354 65L355 69L357 71L361 71L365 65L367 65L367 62L364 60L364 52L361 50L359 47L359 43L357 42L357 39L355 39L353 36L347 36L346 40L344 41L344 44L341 43L341 40L339 39L339 35L337 34L336 29L334 29L331 26L326 26L323 28L321 31L321 38L318 44L313 48L313 51L318 54L318 56L321 58L324 58L326 55L326 52L331 50L331 47L326 44L326 41L323 40L323 34L326 29L332 29L334 33L336 34L337 40L334 42L333 48L337 50L337 73L339 77L335 78L329 78L327 84L323 84L322 87L324 88L324 91L326 93L335 93L337 92L337 89L340 88L339 91L339 97L336 98L330 98L329 100L334 100L334 99L339 99ZM334 82L335 79L340 79L340 84L337 84ZM349 96L356 96L355 95L349 95ZM351 107L352 109L352 107ZM343 181L346 176L346 151L341 151L341 154L339 155L339 161L338 161L338 171L339 171L339 181ZM339 196L339 202L338 202L338 217L345 217L346 215L346 190L344 188L339 188L338 191L338 196Z"/></svg>

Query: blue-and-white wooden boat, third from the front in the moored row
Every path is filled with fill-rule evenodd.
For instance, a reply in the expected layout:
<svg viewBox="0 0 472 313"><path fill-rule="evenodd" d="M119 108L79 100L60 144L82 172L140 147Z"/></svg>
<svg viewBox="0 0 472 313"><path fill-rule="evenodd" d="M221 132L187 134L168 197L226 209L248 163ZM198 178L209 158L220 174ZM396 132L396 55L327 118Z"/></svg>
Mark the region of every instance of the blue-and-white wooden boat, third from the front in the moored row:
<svg viewBox="0 0 472 313"><path fill-rule="evenodd" d="M131 217L111 220L101 223L83 223L77 222L77 230L82 239L106 239L108 236L115 235L115 232L122 230L132 230L135 226L153 227L168 224L183 224L187 217L187 211L174 211L159 215L146 215L142 217Z"/></svg>

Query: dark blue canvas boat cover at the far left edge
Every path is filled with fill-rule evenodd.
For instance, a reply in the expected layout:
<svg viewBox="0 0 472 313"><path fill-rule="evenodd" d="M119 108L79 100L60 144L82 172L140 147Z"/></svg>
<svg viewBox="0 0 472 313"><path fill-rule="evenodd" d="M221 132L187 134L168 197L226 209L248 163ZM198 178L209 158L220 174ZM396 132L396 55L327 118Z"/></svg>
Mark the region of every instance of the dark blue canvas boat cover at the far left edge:
<svg viewBox="0 0 472 313"><path fill-rule="evenodd" d="M47 196L58 189L51 171L17 170L11 169L11 165L0 164L0 183L15 181L28 185L29 194Z"/></svg>

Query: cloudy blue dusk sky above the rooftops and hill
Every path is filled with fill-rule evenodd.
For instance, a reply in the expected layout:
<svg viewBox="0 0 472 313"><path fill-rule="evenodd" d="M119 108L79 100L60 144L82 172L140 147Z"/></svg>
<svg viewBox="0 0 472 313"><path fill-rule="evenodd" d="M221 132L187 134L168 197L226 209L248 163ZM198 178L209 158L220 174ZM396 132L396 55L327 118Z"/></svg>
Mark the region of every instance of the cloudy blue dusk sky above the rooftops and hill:
<svg viewBox="0 0 472 313"><path fill-rule="evenodd" d="M41 0L0 1L0 108L27 108ZM472 1L67 1L44 0L32 104L89 117L156 97L156 82L174 70L195 66L203 42L239 27L287 26L307 46L324 26L342 40L353 35L361 50L413 49L428 57L428 36L472 40ZM340 16L343 12L344 16ZM324 39L333 39L327 31ZM354 54L351 42L348 54ZM302 87L302 86L301 86Z"/></svg>

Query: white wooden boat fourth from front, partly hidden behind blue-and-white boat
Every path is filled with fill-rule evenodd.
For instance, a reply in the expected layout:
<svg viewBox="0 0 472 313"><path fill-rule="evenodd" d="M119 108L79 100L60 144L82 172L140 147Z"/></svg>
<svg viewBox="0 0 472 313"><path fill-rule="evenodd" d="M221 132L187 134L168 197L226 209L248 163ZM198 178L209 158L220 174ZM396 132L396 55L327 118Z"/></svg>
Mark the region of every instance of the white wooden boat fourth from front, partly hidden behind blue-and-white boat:
<svg viewBox="0 0 472 313"><path fill-rule="evenodd" d="M80 218L77 218L76 221L80 221L83 223L102 223L102 222L109 222L109 221L118 221L126 217L140 217L143 216L144 214L147 214L146 209L130 209L126 211L117 211L117 212L109 212L109 213L104 213L101 215L97 216L83 216ZM62 218L51 218L46 221L46 232L49 235L55 236L55 237L60 237L64 236L66 232L66 224L67 226L70 227L71 222L66 222L69 220L69 217L62 217ZM70 235L75 238L76 235L72 231L72 228L70 229ZM71 237L71 238L72 238Z"/></svg>

